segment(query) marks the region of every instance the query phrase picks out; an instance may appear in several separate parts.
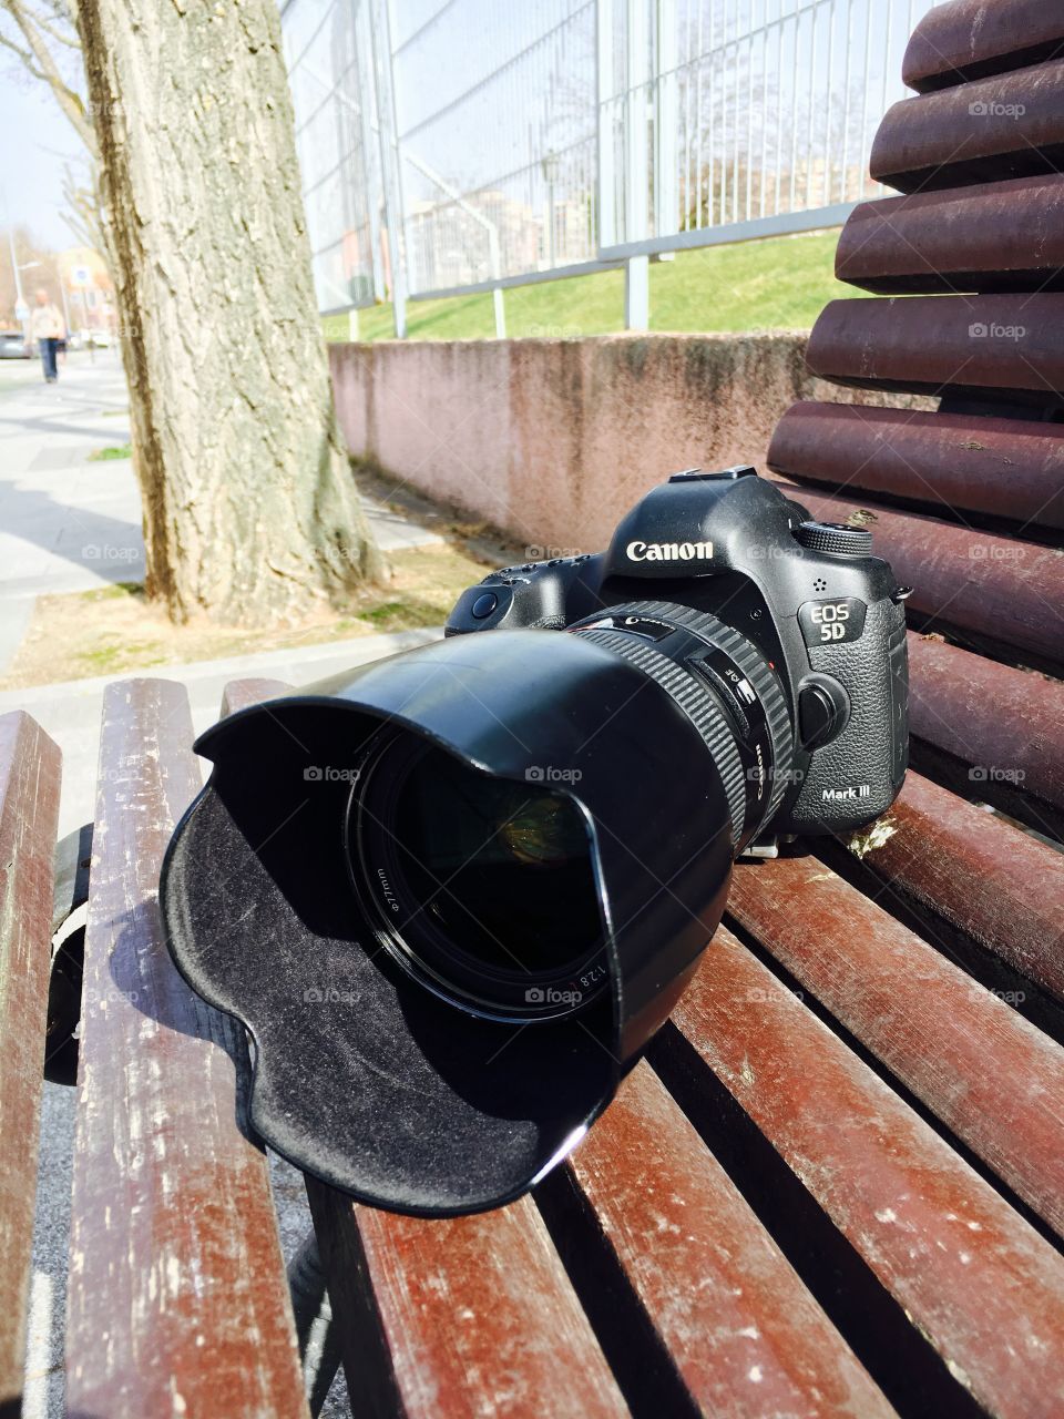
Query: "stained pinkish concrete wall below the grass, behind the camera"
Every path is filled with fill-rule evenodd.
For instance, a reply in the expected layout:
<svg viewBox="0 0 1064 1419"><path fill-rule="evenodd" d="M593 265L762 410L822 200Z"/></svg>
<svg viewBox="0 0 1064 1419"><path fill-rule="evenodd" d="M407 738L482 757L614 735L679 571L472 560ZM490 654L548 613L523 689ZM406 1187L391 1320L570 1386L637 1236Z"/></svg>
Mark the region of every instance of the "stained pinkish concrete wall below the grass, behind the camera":
<svg viewBox="0 0 1064 1419"><path fill-rule="evenodd" d="M803 335L329 346L353 454L546 555L602 548L678 468L763 467L796 399L884 402L813 379L803 350Z"/></svg>

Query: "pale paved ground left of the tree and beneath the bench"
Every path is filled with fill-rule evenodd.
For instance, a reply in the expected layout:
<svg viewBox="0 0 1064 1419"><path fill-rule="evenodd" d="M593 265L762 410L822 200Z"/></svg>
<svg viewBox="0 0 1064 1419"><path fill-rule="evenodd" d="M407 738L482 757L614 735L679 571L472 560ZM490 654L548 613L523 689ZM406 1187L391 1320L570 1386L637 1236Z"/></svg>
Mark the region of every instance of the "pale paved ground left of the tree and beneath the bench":
<svg viewBox="0 0 1064 1419"><path fill-rule="evenodd" d="M34 363L0 363L0 668L10 661L45 593L81 592L143 578L140 499L128 460L89 461L129 440L128 397L116 350L71 355L58 385ZM377 504L367 512L386 551L440 541ZM196 731L217 718L221 690L238 675L306 684L438 636L438 630L363 636L224 661L153 667L189 687ZM104 687L113 675L0 694L0 714L27 710L62 749L60 832L92 817ZM27 1347L26 1419L64 1415L62 1344L70 1242L74 1091L45 1084L34 1274ZM302 1179L271 1158L285 1254L309 1227ZM349 1415L342 1374L325 1419Z"/></svg>

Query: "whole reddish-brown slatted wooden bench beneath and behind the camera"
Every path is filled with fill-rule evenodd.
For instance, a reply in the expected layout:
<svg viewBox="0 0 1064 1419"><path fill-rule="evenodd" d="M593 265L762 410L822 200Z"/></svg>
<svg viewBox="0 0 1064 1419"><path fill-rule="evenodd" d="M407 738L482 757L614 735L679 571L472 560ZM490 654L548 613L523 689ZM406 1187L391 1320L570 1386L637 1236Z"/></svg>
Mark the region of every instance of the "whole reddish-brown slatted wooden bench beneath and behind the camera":
<svg viewBox="0 0 1064 1419"><path fill-rule="evenodd" d="M987 82L1019 102L1055 62L1055 9L928 16L902 109L938 106L926 125L892 111L877 142L902 192L931 160L911 133ZM1055 112L1064 125L1060 96ZM830 307L810 345L830 377L931 389L946 410L799 406L772 451L816 515L871 512L916 587L916 771L853 840L736 868L674 1019L533 1198L420 1220L308 1182L356 1413L1064 1413L1064 322L1044 314L1064 295L1010 186L1041 203L1053 180L994 142L952 163L936 201L990 213L1004 194L1007 241L987 217L941 243L924 183L858 209L840 243L864 285L926 291L931 268L979 294ZM1046 363L962 343L966 325L1024 319ZM237 683L223 711L281 688ZM82 1419L308 1412L267 1159L243 1122L245 1043L160 938L162 853L200 783L190 744L179 685L108 690L68 1297ZM4 1413L21 1389L58 780L33 721L0 718Z"/></svg>

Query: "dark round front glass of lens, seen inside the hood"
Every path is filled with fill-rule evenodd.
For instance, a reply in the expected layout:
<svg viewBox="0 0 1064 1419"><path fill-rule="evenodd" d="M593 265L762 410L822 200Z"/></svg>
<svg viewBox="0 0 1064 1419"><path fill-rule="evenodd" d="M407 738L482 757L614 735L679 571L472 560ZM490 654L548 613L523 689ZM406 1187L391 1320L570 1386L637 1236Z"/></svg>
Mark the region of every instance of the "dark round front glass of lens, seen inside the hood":
<svg viewBox="0 0 1064 1419"><path fill-rule="evenodd" d="M346 844L380 945L451 1003L556 1019L602 990L590 837L565 793L384 732L352 788Z"/></svg>

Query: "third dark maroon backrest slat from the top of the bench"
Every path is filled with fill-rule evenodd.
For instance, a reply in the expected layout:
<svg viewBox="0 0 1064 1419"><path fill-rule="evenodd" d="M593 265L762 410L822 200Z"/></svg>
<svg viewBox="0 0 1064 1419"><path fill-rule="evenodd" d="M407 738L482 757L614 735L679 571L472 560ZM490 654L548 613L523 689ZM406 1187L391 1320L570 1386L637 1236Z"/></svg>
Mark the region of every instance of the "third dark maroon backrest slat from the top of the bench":
<svg viewBox="0 0 1064 1419"><path fill-rule="evenodd" d="M836 248L840 281L885 295L1064 289L1064 176L863 201Z"/></svg>

